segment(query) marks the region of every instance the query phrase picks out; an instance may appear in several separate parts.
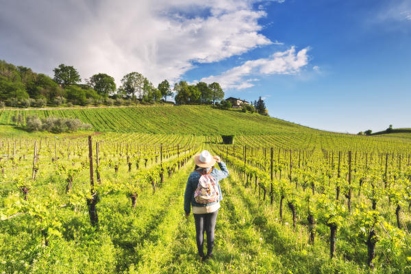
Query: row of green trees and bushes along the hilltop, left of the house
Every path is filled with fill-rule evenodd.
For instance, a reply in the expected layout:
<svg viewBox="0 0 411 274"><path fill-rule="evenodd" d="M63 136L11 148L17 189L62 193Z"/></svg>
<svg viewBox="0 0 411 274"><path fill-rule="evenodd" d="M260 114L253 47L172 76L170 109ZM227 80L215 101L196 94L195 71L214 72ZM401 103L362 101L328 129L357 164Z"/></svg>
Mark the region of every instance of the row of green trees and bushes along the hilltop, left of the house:
<svg viewBox="0 0 411 274"><path fill-rule="evenodd" d="M138 72L127 73L117 88L114 77L97 73L85 79L73 66L60 64L53 69L53 79L42 73L34 73L25 66L14 66L0 60L0 107L42 108L45 105L129 105L135 103L165 102L175 95L177 104L215 103L223 99L219 83L195 85L185 81L172 89L164 79L155 87L147 77Z"/></svg>

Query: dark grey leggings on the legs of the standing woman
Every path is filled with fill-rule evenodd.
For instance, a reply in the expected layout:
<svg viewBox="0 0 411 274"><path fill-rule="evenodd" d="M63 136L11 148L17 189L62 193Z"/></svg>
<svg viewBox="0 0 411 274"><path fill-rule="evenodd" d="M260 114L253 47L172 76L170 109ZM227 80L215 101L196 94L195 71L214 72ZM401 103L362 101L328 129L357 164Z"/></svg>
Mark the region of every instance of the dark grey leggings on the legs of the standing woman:
<svg viewBox="0 0 411 274"><path fill-rule="evenodd" d="M219 210L206 214L193 214L195 221L197 249L199 250L199 256L201 257L204 256L204 231L206 231L207 233L207 254L212 255L212 248L214 247L214 227L216 227L217 213L219 213Z"/></svg>

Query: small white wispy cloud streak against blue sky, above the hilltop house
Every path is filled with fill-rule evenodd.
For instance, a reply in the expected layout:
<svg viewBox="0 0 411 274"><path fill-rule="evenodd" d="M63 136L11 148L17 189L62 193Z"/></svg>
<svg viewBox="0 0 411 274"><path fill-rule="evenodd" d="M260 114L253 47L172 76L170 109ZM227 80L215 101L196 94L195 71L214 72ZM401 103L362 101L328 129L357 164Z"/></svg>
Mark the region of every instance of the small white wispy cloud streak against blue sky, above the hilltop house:
<svg viewBox="0 0 411 274"><path fill-rule="evenodd" d="M223 89L241 90L254 86L256 79L247 77L251 75L274 75L274 74L295 74L303 66L308 64L309 48L296 52L295 47L287 51L273 53L269 58L249 60L240 66L235 66L220 75L204 77L201 82L219 82Z"/></svg>

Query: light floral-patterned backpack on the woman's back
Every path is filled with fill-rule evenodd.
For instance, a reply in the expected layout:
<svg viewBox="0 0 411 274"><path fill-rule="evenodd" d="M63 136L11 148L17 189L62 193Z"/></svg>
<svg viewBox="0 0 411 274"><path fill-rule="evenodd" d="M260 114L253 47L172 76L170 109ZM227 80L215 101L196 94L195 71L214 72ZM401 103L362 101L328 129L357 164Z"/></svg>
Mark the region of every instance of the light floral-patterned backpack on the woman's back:
<svg viewBox="0 0 411 274"><path fill-rule="evenodd" d="M208 173L201 174L199 184L194 192L194 199L197 203L212 203L219 201L219 190L216 186L216 179L210 175L212 169Z"/></svg>

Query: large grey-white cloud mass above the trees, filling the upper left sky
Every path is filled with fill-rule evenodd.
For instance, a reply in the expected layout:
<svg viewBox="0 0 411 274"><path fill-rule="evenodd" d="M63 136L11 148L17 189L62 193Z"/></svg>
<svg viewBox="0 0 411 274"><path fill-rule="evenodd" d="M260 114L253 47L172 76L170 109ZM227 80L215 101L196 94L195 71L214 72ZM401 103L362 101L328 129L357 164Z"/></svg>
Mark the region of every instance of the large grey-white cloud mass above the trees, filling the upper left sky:
<svg viewBox="0 0 411 274"><path fill-rule="evenodd" d="M173 82L192 62L217 62L272 44L259 33L258 19L266 14L253 10L253 2L3 1L1 58L49 75L64 63L83 78L108 73L117 84L131 71L154 84Z"/></svg>

